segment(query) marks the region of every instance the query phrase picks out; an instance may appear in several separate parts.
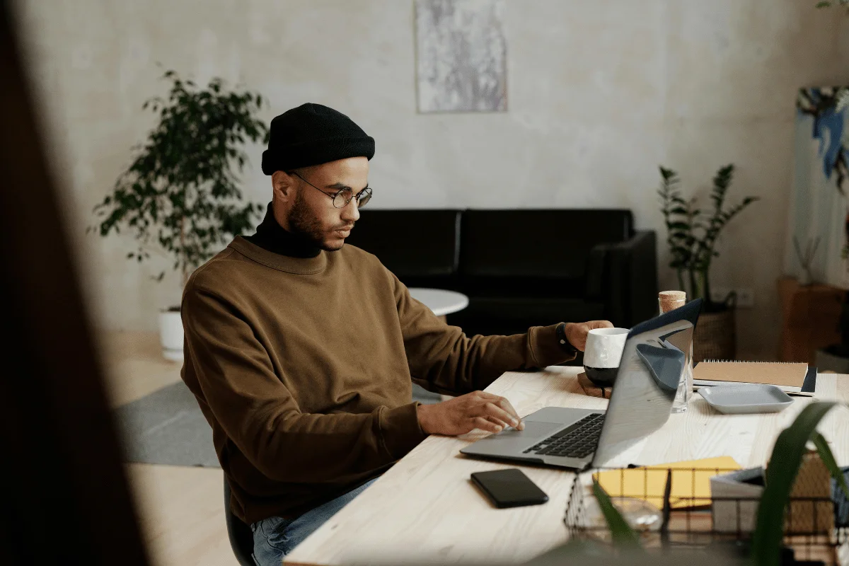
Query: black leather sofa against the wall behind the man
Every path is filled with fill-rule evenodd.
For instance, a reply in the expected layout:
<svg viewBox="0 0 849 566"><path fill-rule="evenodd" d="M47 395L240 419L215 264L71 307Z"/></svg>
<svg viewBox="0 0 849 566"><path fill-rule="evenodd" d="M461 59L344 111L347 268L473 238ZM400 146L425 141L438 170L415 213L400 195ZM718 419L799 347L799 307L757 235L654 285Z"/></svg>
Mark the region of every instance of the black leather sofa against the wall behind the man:
<svg viewBox="0 0 849 566"><path fill-rule="evenodd" d="M657 313L655 233L630 210L361 210L347 238L408 287L458 290L473 334Z"/></svg>

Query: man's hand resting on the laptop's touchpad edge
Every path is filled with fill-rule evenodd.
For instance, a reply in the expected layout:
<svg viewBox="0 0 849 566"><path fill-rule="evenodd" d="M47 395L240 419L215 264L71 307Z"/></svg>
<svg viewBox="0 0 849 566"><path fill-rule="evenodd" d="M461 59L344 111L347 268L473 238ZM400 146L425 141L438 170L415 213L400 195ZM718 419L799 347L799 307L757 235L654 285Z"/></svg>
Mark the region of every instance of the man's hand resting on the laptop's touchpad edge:
<svg viewBox="0 0 849 566"><path fill-rule="evenodd" d="M419 405L419 426L425 434L456 436L472 429L498 433L506 427L521 430L516 410L503 397L474 391L435 405Z"/></svg>

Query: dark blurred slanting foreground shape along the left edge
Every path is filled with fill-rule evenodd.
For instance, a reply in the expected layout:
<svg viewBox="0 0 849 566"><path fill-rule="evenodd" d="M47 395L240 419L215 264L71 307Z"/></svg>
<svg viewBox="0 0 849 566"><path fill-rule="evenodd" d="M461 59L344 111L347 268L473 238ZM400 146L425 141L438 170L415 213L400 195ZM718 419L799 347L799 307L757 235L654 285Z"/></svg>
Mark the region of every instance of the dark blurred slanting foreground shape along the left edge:
<svg viewBox="0 0 849 566"><path fill-rule="evenodd" d="M147 564L2 0L0 84L0 563Z"/></svg>

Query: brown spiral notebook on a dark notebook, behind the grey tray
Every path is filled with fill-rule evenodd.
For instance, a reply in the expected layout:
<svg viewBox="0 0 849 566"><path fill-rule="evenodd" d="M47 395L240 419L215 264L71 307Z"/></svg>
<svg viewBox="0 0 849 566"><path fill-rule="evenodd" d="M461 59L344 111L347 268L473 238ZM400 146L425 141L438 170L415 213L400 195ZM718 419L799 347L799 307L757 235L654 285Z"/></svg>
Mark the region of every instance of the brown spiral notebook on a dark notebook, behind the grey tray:
<svg viewBox="0 0 849 566"><path fill-rule="evenodd" d="M784 393L813 395L817 388L817 368L788 361L700 361L693 368L693 384L768 384Z"/></svg>

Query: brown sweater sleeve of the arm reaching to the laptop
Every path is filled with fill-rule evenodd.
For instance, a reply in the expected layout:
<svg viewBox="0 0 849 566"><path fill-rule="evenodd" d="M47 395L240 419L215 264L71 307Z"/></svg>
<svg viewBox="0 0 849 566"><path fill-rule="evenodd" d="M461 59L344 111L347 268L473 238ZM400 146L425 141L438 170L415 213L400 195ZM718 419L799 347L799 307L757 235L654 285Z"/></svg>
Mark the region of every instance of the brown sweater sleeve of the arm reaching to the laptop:
<svg viewBox="0 0 849 566"><path fill-rule="evenodd" d="M426 436L418 403L364 414L301 412L239 309L196 286L183 294L186 363L224 432L262 474L320 482L380 468ZM295 463L296 462L296 463Z"/></svg>

